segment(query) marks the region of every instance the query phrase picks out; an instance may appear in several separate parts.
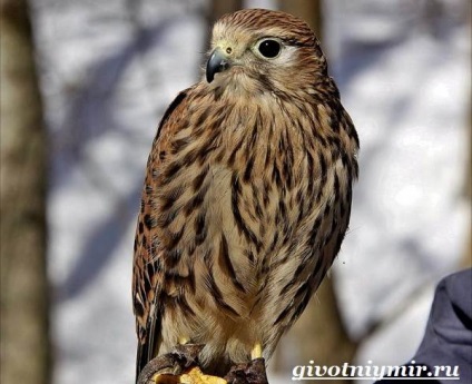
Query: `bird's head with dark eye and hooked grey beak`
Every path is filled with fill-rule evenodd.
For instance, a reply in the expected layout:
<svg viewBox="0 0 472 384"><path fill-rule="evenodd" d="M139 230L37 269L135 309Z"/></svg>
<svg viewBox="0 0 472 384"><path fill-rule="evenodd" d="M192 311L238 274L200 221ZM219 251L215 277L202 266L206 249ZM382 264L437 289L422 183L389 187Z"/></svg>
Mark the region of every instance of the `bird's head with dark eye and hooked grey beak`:
<svg viewBox="0 0 472 384"><path fill-rule="evenodd" d="M206 81L212 88L283 92L326 76L326 60L308 24L285 12L245 9L213 28Z"/></svg>

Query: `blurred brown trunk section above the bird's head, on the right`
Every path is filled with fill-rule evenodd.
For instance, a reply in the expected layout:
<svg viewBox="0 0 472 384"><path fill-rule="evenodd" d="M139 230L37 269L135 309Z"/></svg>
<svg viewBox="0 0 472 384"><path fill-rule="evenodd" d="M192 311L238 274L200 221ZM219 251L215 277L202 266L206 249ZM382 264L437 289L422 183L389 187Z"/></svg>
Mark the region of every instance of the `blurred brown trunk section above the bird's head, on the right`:
<svg viewBox="0 0 472 384"><path fill-rule="evenodd" d="M278 0L282 11L305 20L321 40L323 36L322 0Z"/></svg>

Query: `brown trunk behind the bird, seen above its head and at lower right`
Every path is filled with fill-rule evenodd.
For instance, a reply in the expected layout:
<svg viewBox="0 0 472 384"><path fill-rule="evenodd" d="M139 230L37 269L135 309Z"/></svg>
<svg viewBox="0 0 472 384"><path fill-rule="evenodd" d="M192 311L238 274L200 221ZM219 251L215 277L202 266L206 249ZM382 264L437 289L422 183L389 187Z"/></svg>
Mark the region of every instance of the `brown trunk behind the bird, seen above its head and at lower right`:
<svg viewBox="0 0 472 384"><path fill-rule="evenodd" d="M322 40L321 0L279 0L281 9L306 20ZM351 363L357 349L357 343L350 338L343 324L333 278L325 278L315 297L311 301L302 317L284 338L275 356L275 370L291 372L293 365L338 365ZM285 351L295 349L291 358ZM292 366L287 366L292 364ZM316 383L316 381L314 381ZM331 383L346 383L338 380Z"/></svg>

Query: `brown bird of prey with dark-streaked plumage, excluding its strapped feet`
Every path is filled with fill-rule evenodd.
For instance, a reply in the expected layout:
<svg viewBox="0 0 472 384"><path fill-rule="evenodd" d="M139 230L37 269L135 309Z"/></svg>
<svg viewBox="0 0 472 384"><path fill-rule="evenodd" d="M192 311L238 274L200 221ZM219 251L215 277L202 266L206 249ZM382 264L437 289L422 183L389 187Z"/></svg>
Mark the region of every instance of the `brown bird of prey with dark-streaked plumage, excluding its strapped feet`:
<svg viewBox="0 0 472 384"><path fill-rule="evenodd" d="M243 9L213 27L147 161L134 246L137 374L199 344L205 373L269 358L340 252L358 136L308 24Z"/></svg>

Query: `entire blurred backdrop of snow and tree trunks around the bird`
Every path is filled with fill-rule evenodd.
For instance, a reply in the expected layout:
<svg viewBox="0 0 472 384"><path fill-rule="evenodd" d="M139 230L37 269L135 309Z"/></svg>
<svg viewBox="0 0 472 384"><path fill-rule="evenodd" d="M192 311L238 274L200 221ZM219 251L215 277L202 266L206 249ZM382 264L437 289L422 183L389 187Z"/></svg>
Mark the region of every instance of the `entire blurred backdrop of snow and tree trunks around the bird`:
<svg viewBox="0 0 472 384"><path fill-rule="evenodd" d="M468 0L2 0L1 383L132 383L132 242L168 104L210 24L283 9L322 40L361 138L351 229L269 363L403 364L471 265ZM340 382L341 383L341 382Z"/></svg>

